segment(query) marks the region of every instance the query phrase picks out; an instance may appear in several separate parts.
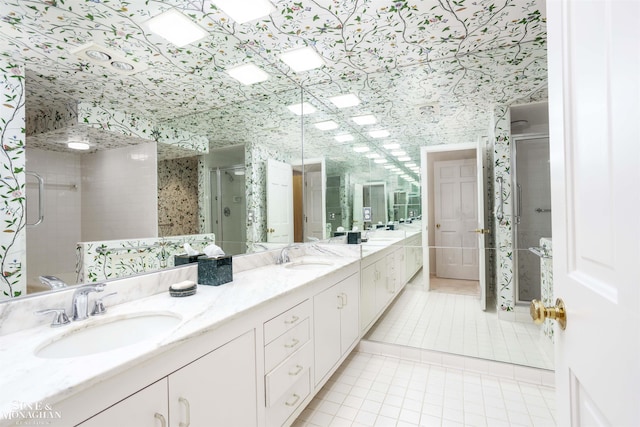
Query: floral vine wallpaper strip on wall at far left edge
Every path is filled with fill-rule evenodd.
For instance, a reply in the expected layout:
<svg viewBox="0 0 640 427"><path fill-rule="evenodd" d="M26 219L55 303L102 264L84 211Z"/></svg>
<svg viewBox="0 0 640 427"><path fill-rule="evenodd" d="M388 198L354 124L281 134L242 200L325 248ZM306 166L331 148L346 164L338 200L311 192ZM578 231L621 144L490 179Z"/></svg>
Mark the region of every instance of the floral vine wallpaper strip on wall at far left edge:
<svg viewBox="0 0 640 427"><path fill-rule="evenodd" d="M26 293L24 67L0 55L0 299Z"/></svg>

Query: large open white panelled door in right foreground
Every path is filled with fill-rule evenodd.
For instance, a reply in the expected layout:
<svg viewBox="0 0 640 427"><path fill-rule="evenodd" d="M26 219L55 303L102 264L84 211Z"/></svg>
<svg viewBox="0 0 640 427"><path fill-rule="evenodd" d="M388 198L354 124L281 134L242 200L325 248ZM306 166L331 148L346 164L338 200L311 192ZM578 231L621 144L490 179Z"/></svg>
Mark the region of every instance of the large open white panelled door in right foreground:
<svg viewBox="0 0 640 427"><path fill-rule="evenodd" d="M640 2L548 2L558 425L640 425Z"/></svg>

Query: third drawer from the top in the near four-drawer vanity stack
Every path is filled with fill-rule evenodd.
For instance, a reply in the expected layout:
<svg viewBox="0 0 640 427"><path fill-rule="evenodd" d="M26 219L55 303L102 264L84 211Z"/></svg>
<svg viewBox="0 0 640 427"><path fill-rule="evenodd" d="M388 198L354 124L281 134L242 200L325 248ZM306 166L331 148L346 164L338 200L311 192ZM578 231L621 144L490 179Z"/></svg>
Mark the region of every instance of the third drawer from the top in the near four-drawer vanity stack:
<svg viewBox="0 0 640 427"><path fill-rule="evenodd" d="M308 341L266 376L267 406L276 404L301 377L308 377L312 364L313 351Z"/></svg>

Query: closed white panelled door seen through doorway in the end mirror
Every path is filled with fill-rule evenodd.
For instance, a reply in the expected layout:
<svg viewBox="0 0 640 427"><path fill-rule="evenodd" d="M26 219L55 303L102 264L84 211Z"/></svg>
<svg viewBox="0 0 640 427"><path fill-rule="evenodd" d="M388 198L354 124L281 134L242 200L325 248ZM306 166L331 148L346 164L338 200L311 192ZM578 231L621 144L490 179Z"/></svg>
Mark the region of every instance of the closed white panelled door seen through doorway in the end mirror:
<svg viewBox="0 0 640 427"><path fill-rule="evenodd" d="M436 276L478 280L476 160L434 164Z"/></svg>

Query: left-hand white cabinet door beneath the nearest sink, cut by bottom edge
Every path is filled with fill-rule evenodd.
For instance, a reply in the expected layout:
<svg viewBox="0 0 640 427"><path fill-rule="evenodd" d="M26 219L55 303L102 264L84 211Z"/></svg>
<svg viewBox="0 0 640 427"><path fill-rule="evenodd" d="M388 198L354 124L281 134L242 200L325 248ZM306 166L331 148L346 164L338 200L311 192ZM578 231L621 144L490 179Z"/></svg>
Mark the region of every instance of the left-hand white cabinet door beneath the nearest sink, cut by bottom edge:
<svg viewBox="0 0 640 427"><path fill-rule="evenodd" d="M80 423L79 426L167 427L168 413L165 378Z"/></svg>

